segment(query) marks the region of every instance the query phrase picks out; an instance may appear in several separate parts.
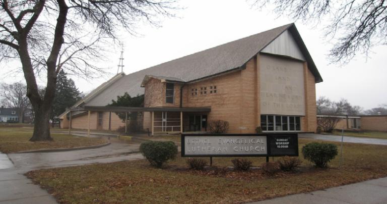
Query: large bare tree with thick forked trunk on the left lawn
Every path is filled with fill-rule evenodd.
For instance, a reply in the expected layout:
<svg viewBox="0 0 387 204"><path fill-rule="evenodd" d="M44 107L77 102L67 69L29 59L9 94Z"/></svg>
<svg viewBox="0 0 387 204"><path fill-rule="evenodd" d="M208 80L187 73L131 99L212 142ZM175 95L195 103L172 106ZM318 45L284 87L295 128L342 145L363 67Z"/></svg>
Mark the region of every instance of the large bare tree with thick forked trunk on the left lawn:
<svg viewBox="0 0 387 204"><path fill-rule="evenodd" d="M0 60L19 59L27 96L35 112L31 141L51 140L49 113L61 69L90 77L106 42L116 41L121 28L135 34L138 22L159 25L172 16L166 0L0 0ZM36 76L45 76L43 96Z"/></svg>

